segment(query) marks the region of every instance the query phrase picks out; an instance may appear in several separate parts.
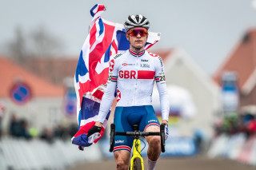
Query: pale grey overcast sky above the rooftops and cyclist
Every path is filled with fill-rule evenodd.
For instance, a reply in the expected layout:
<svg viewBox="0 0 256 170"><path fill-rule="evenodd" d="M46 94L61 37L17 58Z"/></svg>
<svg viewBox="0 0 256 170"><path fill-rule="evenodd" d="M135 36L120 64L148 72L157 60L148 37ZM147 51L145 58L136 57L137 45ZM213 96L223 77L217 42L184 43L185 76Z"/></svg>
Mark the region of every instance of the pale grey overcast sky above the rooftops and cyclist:
<svg viewBox="0 0 256 170"><path fill-rule="evenodd" d="M162 33L154 49L181 47L206 73L212 74L246 30L256 28L254 0L0 0L0 53L20 26L26 35L44 26L60 38L64 54L78 57L90 24L90 9L104 4L102 18L123 23L143 14L150 31Z"/></svg>

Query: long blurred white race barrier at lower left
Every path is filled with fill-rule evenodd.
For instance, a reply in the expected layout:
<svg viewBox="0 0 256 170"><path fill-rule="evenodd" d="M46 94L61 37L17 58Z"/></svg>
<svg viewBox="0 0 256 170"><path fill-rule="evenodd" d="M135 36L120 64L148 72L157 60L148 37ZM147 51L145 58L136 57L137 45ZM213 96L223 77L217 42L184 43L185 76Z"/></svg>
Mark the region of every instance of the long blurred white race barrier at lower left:
<svg viewBox="0 0 256 170"><path fill-rule="evenodd" d="M75 164L102 159L98 144L79 151L70 140L22 140L2 138L0 140L0 169L66 169Z"/></svg>

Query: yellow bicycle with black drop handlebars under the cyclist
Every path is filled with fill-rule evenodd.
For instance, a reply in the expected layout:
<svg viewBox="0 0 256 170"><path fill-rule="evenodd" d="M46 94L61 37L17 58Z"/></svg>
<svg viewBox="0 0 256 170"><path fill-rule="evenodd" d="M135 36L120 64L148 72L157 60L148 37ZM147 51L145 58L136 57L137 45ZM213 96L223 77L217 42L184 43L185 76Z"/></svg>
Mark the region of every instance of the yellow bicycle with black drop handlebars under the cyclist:
<svg viewBox="0 0 256 170"><path fill-rule="evenodd" d="M138 130L138 125L134 125L134 132L115 132L115 125L110 125L110 152L114 150L114 136L133 136L134 145L132 151L132 157L130 159L130 170L144 170L143 158L141 155L141 140L143 136L160 136L161 138L161 151L165 152L165 125L160 125L160 132L140 132ZM142 140L143 141L143 140ZM144 143L144 141L143 141ZM144 147L145 148L145 147Z"/></svg>

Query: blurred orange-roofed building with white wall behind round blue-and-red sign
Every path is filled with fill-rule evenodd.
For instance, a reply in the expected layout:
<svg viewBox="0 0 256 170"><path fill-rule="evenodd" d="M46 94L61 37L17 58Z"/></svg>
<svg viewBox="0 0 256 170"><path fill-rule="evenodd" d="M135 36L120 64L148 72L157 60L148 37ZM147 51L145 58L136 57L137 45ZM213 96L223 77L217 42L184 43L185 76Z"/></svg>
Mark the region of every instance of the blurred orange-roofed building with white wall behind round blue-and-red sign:
<svg viewBox="0 0 256 170"><path fill-rule="evenodd" d="M54 128L76 117L66 117L63 109L65 89L53 85L0 56L0 101L6 107L3 129L6 132L11 114L28 121L30 127Z"/></svg>

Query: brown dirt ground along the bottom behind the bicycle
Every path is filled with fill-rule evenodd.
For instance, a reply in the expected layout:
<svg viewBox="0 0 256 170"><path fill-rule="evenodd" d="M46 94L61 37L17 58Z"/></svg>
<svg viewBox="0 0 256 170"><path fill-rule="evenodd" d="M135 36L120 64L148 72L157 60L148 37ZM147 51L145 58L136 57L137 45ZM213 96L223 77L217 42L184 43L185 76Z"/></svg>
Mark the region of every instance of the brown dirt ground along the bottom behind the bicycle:
<svg viewBox="0 0 256 170"><path fill-rule="evenodd" d="M147 161L144 160L145 169ZM79 164L69 170L99 170L99 169L115 169L114 160L102 160L100 162ZM223 158L210 159L207 156L193 157L161 157L155 170L174 169L174 170L255 170L256 166L238 163L234 160Z"/></svg>

